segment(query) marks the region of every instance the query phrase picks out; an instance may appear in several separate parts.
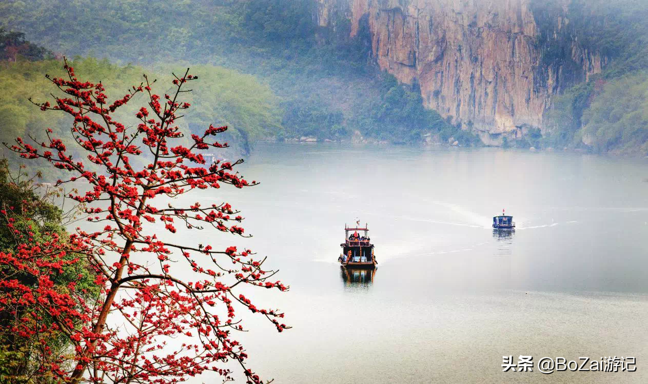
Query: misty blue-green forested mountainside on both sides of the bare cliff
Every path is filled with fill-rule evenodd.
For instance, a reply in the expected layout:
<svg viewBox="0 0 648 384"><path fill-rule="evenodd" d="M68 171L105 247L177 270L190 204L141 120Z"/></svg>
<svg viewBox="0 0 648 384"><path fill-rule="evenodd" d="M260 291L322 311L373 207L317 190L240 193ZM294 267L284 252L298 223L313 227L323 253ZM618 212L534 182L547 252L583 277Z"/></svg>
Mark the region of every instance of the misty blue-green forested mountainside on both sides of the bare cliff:
<svg viewBox="0 0 648 384"><path fill-rule="evenodd" d="M450 124L450 119L422 107L424 100L416 82L400 85L391 74L377 69L371 36L364 24L352 38L348 15L333 12L327 27L320 27L320 3L8 0L0 4L0 27L5 28L5 34L23 32L25 41L45 47L44 51L34 51L36 54L27 54L23 49L21 55L30 60L36 60L38 55L51 58L65 54L107 58L115 65L132 64L155 73L186 65L214 65L238 71L230 73L232 76L251 74L256 80L237 80L238 90L246 88L249 95L270 95L254 91L257 85L267 84L266 92L276 97L269 96L270 107L260 113L262 122L243 118L233 123L243 142L260 137L364 137L399 143L417 143L427 138L433 142L457 140L466 145L479 142L470 124L461 124L461 130L459 124ZM644 124L648 112L642 100L648 96L640 85L648 68L648 7L644 3L532 1L541 65L559 73L559 82L551 85L555 87L551 93L557 95L551 97L542 126L537 126L540 131L520 127L524 131L521 139L517 135L515 141L503 143L646 153L643 137L648 137L644 133L648 129ZM585 54L602 58L603 71L582 83L577 79L583 78L583 63L573 61L575 41ZM3 52L5 60L17 57L16 49ZM639 83L628 87L631 82ZM205 86L210 92L211 86ZM238 95L238 91L231 95ZM633 102L619 104L615 100ZM615 109L608 111L610 102ZM22 107L11 106L24 117ZM218 108L214 104L213 113L201 112L215 117L224 113ZM224 107L224 111L231 112L232 108ZM272 119L266 112L272 114ZM10 113L9 109L5 113ZM233 121L234 115L222 119ZM20 130L19 125L12 129Z"/></svg>

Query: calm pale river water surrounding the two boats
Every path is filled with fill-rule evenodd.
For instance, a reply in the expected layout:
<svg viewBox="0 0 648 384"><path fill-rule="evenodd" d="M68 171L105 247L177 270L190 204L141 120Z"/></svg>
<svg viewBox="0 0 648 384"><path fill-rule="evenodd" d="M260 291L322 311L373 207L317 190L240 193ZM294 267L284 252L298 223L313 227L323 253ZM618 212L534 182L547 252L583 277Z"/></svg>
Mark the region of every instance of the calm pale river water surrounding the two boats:
<svg viewBox="0 0 648 384"><path fill-rule="evenodd" d="M275 383L646 383L647 163L260 144L240 168L259 186L201 201L242 209L254 237L236 242L290 284L256 297L293 328L249 319L239 337ZM504 208L515 233L491 228ZM373 273L336 263L356 219L375 244ZM533 356L533 372L502 372L509 355ZM545 356L636 357L636 372L542 374Z"/></svg>

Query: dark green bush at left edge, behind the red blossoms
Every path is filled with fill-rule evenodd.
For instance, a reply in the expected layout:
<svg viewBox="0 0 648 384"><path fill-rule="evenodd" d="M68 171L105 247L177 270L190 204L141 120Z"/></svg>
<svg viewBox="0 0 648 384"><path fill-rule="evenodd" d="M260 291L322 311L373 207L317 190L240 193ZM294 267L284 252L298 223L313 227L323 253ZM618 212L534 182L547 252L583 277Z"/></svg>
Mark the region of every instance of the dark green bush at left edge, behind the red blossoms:
<svg viewBox="0 0 648 384"><path fill-rule="evenodd" d="M24 286L38 289L40 280L24 270L8 266L11 254L16 254L26 243L47 243L54 238L67 242L64 225L75 220L78 207L64 212L57 203L63 200L62 190L36 183L38 177L28 177L21 168L17 175L9 170L6 159L0 160L0 289L8 286ZM60 204L59 204L60 205ZM65 204L63 204L65 207ZM61 262L75 259L73 253L65 254ZM82 299L97 297L98 289L93 284L91 273L84 262L68 264L51 280L52 289L66 291L69 284L75 284ZM6 297L0 294L0 300ZM35 319L30 313L37 311L31 300L21 303L4 301L0 307L0 382L2 383L53 383L49 372L49 360L41 359L43 354L64 355L71 343L64 333L45 330L52 324L52 317L44 314L38 319L43 328L38 337L19 332L21 324ZM75 326L78 325L75 322ZM34 325L34 324L32 324Z"/></svg>

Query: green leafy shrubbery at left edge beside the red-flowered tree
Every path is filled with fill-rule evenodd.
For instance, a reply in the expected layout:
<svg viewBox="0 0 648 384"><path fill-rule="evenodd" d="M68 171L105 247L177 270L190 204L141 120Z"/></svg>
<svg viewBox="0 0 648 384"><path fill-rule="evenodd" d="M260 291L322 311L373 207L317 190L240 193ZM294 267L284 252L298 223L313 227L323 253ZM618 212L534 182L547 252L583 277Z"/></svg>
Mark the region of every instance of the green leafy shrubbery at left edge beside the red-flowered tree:
<svg viewBox="0 0 648 384"><path fill-rule="evenodd" d="M39 186L36 181L38 177L30 178L23 168L16 174L10 172L8 161L0 159L0 252L14 253L21 243L46 242L54 234L67 241L65 224L74 220L79 210L75 206L64 212L57 204L62 191ZM76 257L76 254L64 256L66 260ZM4 279L17 280L27 286L39 284L27 273L15 273L4 267L0 268L0 274ZM66 266L53 282L55 288L62 291L68 289L68 284L74 283L84 292L86 299L92 299L99 293L93 277L87 264L81 262ZM55 383L51 376L38 373L43 362L34 361L32 352L45 347L54 353L65 351L70 347L67 338L59 332L51 333L45 337L48 340L45 346L36 342L35 338L17 335L11 327L21 313L31 310L29 306L16 306L14 310L15 313L0 311L0 382Z"/></svg>

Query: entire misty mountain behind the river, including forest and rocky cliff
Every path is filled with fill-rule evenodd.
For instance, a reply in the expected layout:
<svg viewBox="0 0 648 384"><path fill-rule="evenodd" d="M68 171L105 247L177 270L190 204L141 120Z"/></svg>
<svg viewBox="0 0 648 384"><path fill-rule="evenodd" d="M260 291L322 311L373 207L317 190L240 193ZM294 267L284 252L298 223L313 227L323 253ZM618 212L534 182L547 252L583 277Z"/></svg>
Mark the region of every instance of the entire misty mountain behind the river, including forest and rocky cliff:
<svg viewBox="0 0 648 384"><path fill-rule="evenodd" d="M253 74L281 100L281 129L269 137L645 153L645 87L623 84L645 84L646 9L632 0L36 0L3 2L0 23L59 54Z"/></svg>

